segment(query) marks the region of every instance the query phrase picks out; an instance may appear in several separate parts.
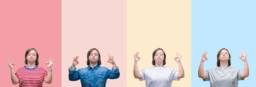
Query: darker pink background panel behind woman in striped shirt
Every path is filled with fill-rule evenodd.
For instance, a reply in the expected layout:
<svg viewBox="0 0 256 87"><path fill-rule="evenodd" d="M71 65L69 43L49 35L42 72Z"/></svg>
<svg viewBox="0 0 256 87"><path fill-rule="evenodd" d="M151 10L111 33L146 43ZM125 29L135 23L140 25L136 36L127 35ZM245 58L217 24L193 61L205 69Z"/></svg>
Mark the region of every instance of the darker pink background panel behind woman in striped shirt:
<svg viewBox="0 0 256 87"><path fill-rule="evenodd" d="M11 82L7 59L14 71L25 66L24 55L34 47L39 66L54 59L53 82L44 87L61 87L61 0L0 0L1 86L18 87Z"/></svg>

